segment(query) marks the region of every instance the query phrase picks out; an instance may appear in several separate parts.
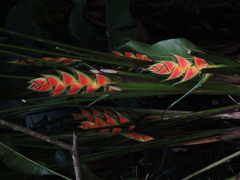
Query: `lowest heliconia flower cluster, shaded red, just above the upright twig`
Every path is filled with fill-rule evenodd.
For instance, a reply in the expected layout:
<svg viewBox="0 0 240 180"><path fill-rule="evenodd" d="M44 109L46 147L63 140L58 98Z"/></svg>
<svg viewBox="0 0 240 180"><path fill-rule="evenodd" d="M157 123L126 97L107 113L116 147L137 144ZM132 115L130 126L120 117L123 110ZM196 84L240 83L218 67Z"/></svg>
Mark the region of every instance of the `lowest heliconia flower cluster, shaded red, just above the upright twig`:
<svg viewBox="0 0 240 180"><path fill-rule="evenodd" d="M126 123L131 123L131 120L127 117L127 115L117 112L111 111L109 109L102 109L98 110L95 108L91 108L90 111L86 109L80 109L81 113L74 113L72 114L76 120L83 120L81 121L81 125L79 128L81 129L93 129L93 128L100 128L100 127L108 127L108 126L115 126L121 125ZM103 134L106 132L111 132L111 135L120 134L126 138L139 141L139 142L146 142L153 140L153 137L148 135L139 134L136 132L131 132L135 128L135 125L129 125L127 128L128 132L125 132L123 128L106 128L99 131L99 134ZM129 132L130 131L130 132Z"/></svg>

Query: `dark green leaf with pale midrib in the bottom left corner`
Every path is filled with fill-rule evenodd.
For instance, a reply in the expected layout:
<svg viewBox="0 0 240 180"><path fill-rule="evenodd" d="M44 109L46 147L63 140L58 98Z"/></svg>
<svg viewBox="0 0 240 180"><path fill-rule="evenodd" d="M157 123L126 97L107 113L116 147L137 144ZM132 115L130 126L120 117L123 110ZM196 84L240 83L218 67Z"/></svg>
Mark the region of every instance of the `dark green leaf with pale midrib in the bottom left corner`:
<svg viewBox="0 0 240 180"><path fill-rule="evenodd" d="M47 175L55 174L64 179L70 178L63 176L55 171L46 167L45 163L37 163L22 154L18 153L11 144L9 137L1 137L0 139L0 159L1 161L13 171L29 174L29 175Z"/></svg>

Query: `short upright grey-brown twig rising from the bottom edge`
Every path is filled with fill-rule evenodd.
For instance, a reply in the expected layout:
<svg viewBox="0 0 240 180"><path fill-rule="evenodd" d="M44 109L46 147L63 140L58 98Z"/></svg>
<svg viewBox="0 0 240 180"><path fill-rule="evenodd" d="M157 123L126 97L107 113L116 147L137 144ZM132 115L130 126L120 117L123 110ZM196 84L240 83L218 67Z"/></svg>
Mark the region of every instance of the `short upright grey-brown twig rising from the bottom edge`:
<svg viewBox="0 0 240 180"><path fill-rule="evenodd" d="M82 179L81 164L78 155L77 133L73 132L72 159L76 180Z"/></svg>

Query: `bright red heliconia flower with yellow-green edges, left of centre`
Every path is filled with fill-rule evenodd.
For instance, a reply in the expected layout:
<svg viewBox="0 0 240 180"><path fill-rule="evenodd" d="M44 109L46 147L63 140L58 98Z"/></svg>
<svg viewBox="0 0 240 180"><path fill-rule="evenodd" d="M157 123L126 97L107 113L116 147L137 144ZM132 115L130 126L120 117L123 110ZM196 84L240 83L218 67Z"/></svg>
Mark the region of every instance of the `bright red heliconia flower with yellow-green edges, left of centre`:
<svg viewBox="0 0 240 180"><path fill-rule="evenodd" d="M73 69L70 74L65 71L56 70L59 76L42 75L43 77L31 80L28 89L38 92L51 92L51 96L60 94L73 95L80 91L92 93L102 86L114 84L108 77L102 74L89 76L79 70ZM112 91L112 86L108 86Z"/></svg>

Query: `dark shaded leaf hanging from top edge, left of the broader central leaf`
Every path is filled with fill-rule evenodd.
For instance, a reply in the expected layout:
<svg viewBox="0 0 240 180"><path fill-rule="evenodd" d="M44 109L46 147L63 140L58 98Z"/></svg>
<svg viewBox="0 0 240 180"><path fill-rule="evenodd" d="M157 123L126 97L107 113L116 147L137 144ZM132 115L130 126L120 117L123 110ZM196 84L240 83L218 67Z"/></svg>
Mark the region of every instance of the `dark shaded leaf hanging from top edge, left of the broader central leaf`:
<svg viewBox="0 0 240 180"><path fill-rule="evenodd" d="M73 0L73 2L75 7L70 15L69 30L70 33L80 41L81 46L87 47L91 36L92 27L83 17L83 9L86 1Z"/></svg>

